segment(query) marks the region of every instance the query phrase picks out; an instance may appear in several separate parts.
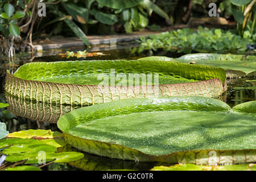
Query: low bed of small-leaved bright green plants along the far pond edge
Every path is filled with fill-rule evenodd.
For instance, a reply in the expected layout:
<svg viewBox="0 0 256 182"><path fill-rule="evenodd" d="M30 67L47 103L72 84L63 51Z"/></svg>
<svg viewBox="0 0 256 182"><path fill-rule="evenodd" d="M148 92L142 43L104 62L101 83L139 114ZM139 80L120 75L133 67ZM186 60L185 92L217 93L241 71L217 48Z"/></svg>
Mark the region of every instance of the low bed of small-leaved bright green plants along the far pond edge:
<svg viewBox="0 0 256 182"><path fill-rule="evenodd" d="M247 44L256 43L256 34L236 35L232 30L224 31L215 28L198 27L198 30L183 28L170 32L162 32L160 35L148 35L141 37L141 46L138 52L161 48L172 52L191 53L196 52L245 52Z"/></svg>

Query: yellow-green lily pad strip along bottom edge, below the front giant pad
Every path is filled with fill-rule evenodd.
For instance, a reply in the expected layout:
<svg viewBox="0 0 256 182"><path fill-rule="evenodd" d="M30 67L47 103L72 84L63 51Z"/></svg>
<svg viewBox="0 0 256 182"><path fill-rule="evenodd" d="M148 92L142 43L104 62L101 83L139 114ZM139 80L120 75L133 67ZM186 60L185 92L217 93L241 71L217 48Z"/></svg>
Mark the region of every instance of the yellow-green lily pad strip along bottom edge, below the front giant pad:
<svg viewBox="0 0 256 182"><path fill-rule="evenodd" d="M152 171L256 171L255 164L236 164L225 166L198 166L195 164L176 164L174 166L155 166Z"/></svg>

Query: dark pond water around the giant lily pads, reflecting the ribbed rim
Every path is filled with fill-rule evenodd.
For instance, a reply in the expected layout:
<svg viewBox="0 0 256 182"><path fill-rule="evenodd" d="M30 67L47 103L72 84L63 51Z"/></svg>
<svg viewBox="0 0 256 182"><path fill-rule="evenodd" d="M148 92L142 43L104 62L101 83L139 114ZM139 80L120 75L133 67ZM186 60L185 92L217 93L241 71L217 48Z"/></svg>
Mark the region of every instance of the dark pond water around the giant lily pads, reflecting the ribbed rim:
<svg viewBox="0 0 256 182"><path fill-rule="evenodd" d="M133 47L136 47L134 45ZM141 54L133 53L133 47L115 48L112 50L101 51L102 56L86 57L86 60L93 59L138 59L144 56L168 56L168 57L179 57L182 53L171 53L167 51L158 52L143 52ZM81 49L80 49L81 50ZM74 52L76 49L73 50ZM88 50L92 51L92 50ZM65 50L57 50L57 53L64 53ZM5 73L6 69L9 69L11 73L22 64L31 61L63 61L63 60L84 60L84 58L77 59L72 57L67 59L59 55L44 54L42 56L17 56L17 59L13 63L8 60L2 60L0 68L0 102L8 102L10 106L7 109L0 109L1 122L5 122L7 130L12 133L14 131L28 130L28 129L51 129L52 131L59 131L56 125L57 119L60 117L60 113L66 113L77 107L71 106L56 106L47 104L36 104L34 102L17 100L13 97L5 96L4 85L5 85ZM10 64L9 64L10 63ZM226 102L231 107L241 104L242 102L256 100L255 89L243 89L252 85L253 82L248 80L255 80L255 77L250 78L231 78L228 79L228 90L222 95L222 101ZM255 83L255 82L254 82ZM46 110L46 113L40 113L41 108ZM36 113L35 111L38 111ZM61 112L60 112L61 111ZM65 151L77 151L76 148L66 146L63 150ZM43 169L48 170L102 170L102 169L137 169L137 170L148 170L156 165L165 165L163 163L142 163L125 161L118 159L104 158L96 155L85 154L85 157L77 162L70 164L49 164ZM170 164L166 164L170 166Z"/></svg>

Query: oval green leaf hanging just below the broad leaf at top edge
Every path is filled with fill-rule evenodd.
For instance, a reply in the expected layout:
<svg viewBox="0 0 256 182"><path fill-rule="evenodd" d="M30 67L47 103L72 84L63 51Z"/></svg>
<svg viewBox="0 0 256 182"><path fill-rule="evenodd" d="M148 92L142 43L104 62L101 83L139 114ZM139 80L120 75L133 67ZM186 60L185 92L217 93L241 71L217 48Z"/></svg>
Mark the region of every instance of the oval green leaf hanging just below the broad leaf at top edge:
<svg viewBox="0 0 256 182"><path fill-rule="evenodd" d="M101 23L112 25L117 22L117 16L114 14L106 14L97 10L90 10L90 14L94 15L94 17Z"/></svg>

